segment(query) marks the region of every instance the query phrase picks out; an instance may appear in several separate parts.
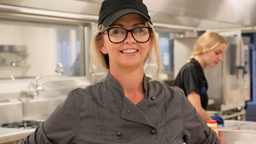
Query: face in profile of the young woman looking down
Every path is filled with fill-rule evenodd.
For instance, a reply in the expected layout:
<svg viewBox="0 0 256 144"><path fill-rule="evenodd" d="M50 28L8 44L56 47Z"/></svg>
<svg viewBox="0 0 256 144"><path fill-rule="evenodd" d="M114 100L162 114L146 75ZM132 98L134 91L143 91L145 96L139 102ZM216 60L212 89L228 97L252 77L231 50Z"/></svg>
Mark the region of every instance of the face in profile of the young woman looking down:
<svg viewBox="0 0 256 144"><path fill-rule="evenodd" d="M225 53L227 45L225 43L221 43L213 50L210 50L203 54L203 60L206 66L210 66L212 68L216 67L219 61L222 61L222 56Z"/></svg>

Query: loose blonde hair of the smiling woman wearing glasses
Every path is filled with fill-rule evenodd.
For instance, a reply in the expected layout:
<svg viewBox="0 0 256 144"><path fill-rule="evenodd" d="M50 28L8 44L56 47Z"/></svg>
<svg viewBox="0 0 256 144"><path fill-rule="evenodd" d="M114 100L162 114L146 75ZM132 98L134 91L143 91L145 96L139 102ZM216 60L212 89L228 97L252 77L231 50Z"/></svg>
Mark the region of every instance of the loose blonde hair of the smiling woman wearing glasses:
<svg viewBox="0 0 256 144"><path fill-rule="evenodd" d="M154 27L147 21L147 26L152 28L151 37L153 38L153 42L151 48L144 60L144 64L148 61L148 65L145 69L145 74L152 72L151 79L149 82L156 79L159 75L161 69L161 55L160 55L160 46L157 39L156 31ZM100 49L99 45L103 42L103 35L99 34L101 30L105 29L102 24L98 26L97 31L93 34L90 43L90 66L93 67L92 73L96 74L99 69L105 70L107 72L109 70L109 58L108 54L103 54ZM96 80L96 75L93 77L93 82Z"/></svg>

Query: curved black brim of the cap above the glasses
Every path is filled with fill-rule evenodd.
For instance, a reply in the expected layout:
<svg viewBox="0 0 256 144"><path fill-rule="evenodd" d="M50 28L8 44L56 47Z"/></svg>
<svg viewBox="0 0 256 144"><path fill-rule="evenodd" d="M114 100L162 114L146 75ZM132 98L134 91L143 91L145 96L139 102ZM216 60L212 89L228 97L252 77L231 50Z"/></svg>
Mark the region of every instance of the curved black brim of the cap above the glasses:
<svg viewBox="0 0 256 144"><path fill-rule="evenodd" d="M116 20L118 20L119 18L121 18L124 15L127 15L129 13L136 13L138 15L143 16L143 18L145 18L149 23L153 24L151 22L151 20L142 12L135 10L135 9L122 9L122 10L118 10L114 13L112 13L111 15L107 16L103 21L102 21L102 25L107 28L109 26L111 26Z"/></svg>

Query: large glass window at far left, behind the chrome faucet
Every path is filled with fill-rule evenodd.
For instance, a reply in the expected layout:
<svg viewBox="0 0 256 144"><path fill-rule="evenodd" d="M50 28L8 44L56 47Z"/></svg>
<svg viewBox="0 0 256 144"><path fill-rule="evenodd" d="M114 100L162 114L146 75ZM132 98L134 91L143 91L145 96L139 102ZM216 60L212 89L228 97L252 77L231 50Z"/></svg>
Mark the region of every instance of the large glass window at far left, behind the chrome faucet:
<svg viewBox="0 0 256 144"><path fill-rule="evenodd" d="M84 31L81 27L1 20L0 76L54 75L58 63L63 65L64 75L85 75L80 69L81 61L84 61L84 50L81 52L81 45L84 45L81 33ZM8 50L10 46L16 49ZM21 52L19 46L25 46L25 49ZM80 53L83 54L80 56ZM21 64L15 65L16 61Z"/></svg>

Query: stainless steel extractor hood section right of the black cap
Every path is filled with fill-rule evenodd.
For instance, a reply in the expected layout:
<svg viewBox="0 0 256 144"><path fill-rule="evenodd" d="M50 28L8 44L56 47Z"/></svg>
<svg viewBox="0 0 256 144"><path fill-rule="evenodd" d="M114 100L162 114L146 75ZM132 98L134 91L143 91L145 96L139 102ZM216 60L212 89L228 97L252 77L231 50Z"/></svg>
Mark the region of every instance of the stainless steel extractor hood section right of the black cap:
<svg viewBox="0 0 256 144"><path fill-rule="evenodd" d="M102 0L80 0L101 3ZM197 30L256 26L254 0L144 0L154 22Z"/></svg>

